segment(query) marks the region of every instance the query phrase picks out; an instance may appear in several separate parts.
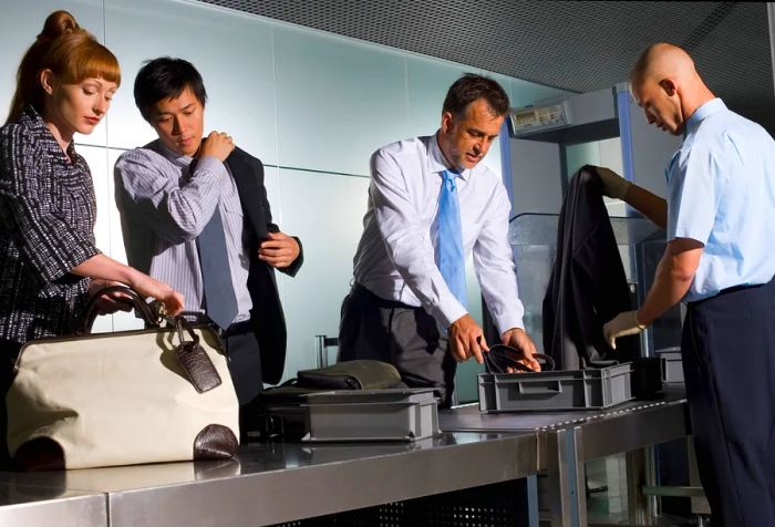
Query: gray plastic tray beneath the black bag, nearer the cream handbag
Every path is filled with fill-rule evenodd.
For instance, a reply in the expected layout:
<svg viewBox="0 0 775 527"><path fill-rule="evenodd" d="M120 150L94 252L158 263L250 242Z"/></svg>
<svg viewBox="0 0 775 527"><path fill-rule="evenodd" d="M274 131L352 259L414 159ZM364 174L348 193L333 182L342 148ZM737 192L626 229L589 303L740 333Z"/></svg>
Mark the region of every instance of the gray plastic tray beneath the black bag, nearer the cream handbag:
<svg viewBox="0 0 775 527"><path fill-rule="evenodd" d="M265 401L262 431L302 442L415 441L440 433L431 389L341 390Z"/></svg>

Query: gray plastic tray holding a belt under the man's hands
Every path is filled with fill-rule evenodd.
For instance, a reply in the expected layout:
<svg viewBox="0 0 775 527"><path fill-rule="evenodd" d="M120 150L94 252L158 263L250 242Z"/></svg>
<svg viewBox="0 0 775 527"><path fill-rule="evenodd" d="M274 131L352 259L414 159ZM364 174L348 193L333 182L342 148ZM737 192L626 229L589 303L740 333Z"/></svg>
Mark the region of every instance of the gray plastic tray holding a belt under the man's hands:
<svg viewBox="0 0 775 527"><path fill-rule="evenodd" d="M630 401L632 363L596 370L480 373L482 412L606 409Z"/></svg>

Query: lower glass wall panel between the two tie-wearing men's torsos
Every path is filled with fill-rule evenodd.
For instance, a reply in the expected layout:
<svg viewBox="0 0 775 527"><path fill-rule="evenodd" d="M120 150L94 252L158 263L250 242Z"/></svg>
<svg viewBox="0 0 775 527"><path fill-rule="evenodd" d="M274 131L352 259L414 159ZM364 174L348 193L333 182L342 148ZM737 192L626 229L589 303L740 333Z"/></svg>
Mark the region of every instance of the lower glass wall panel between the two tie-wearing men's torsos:
<svg viewBox="0 0 775 527"><path fill-rule="evenodd" d="M369 178L281 169L280 229L298 236L304 264L294 278L278 272L288 324L286 378L316 368L314 335L339 335L342 299L363 232ZM332 352L333 354L333 352Z"/></svg>

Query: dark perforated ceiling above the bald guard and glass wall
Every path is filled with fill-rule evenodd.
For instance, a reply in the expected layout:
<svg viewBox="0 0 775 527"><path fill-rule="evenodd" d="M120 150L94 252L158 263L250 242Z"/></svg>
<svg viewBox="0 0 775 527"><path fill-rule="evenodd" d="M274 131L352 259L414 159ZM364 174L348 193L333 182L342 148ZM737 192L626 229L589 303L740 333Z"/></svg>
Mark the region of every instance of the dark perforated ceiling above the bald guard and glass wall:
<svg viewBox="0 0 775 527"><path fill-rule="evenodd" d="M765 2L202 1L572 92L626 81L647 45L672 42L732 110L775 132Z"/></svg>

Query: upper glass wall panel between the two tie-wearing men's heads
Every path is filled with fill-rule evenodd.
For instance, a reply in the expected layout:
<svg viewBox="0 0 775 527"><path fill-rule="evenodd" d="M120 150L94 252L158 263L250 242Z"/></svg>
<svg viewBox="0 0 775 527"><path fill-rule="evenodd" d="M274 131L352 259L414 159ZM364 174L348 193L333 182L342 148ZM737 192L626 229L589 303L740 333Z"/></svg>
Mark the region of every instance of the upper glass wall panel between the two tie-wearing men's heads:
<svg viewBox="0 0 775 527"><path fill-rule="evenodd" d="M275 28L280 165L368 175L406 137L404 59L324 33Z"/></svg>

